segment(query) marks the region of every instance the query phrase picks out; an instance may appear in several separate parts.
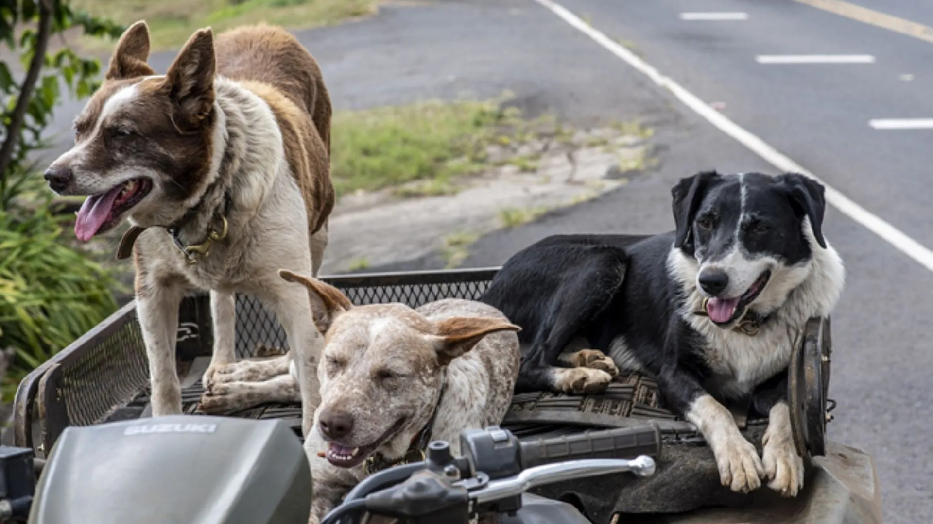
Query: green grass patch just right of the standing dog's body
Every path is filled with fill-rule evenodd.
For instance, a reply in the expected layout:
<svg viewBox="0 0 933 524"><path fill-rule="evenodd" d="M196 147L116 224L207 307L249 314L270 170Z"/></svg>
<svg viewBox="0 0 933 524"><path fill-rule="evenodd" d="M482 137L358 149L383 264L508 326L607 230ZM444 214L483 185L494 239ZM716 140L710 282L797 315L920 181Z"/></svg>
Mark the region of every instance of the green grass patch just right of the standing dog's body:
<svg viewBox="0 0 933 524"><path fill-rule="evenodd" d="M338 196L414 181L402 194L448 194L487 166L488 147L520 143L531 124L500 101L425 102L335 113L330 176Z"/></svg>

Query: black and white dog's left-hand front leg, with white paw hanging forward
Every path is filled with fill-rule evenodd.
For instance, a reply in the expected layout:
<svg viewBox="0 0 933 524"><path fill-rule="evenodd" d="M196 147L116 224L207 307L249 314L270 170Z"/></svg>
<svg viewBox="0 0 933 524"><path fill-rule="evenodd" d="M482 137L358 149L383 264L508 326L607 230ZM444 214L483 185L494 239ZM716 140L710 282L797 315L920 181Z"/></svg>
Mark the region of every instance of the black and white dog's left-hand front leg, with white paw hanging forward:
<svg viewBox="0 0 933 524"><path fill-rule="evenodd" d="M729 409L675 365L661 369L658 386L667 404L703 434L716 458L722 485L743 493L757 490L764 475L758 450L739 432Z"/></svg>

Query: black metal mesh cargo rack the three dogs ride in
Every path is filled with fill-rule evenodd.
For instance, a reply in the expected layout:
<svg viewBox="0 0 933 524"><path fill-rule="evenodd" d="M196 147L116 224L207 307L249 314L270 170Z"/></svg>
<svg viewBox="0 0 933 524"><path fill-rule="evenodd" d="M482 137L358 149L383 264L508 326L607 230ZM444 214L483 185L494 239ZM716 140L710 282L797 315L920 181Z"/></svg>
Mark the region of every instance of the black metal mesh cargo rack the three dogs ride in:
<svg viewBox="0 0 933 524"><path fill-rule="evenodd" d="M479 298L496 268L322 277L356 305L402 302L412 308L447 297ZM203 392L200 375L213 343L210 300L189 296L181 305L177 364L185 413L195 414ZM237 297L236 352L257 357L285 351L285 331L256 299ZM272 349L272 350L270 350ZM15 442L43 454L69 425L135 419L148 413L148 363L134 302L36 368L15 401ZM280 418L300 434L299 406L269 404L231 416ZM629 421L628 419L633 419ZM618 427L656 421L664 434L697 438L692 427L659 407L657 384L623 375L605 394L516 395L506 424L522 436L578 431L579 426Z"/></svg>

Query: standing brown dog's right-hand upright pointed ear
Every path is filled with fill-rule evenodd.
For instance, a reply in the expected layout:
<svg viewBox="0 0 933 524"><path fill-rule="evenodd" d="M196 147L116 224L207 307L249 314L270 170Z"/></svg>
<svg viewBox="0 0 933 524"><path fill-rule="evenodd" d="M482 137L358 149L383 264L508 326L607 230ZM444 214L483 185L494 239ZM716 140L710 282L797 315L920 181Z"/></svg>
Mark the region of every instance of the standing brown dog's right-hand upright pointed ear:
<svg viewBox="0 0 933 524"><path fill-rule="evenodd" d="M165 89L174 103L175 125L198 127L214 106L216 54L214 32L200 29L188 38L165 74Z"/></svg>

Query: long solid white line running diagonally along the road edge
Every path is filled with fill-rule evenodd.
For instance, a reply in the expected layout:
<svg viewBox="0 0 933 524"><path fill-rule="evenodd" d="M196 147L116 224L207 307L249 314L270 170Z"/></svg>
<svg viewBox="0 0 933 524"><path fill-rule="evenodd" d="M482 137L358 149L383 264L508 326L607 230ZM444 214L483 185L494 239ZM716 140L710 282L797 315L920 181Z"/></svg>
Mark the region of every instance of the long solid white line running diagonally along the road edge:
<svg viewBox="0 0 933 524"><path fill-rule="evenodd" d="M765 159L778 170L784 172L800 172L819 181L821 184L823 184L823 186L826 187L826 200L829 202L829 205L838 209L840 212L842 212L842 214L845 214L849 218L855 220L856 223L861 224L865 228L868 228L872 233L881 237L882 240L890 243L901 253L910 256L913 260L924 266L926 269L933 271L933 252L927 249L923 244L918 241L914 241L911 237L901 232L898 228L888 224L877 215L871 214L870 211L858 205L855 201L850 200L834 187L829 186L823 180L820 180L819 177L817 177L814 173L807 171L794 160L787 158L787 156L785 156L783 153L779 152L777 149L774 149L771 145L766 144L758 136L745 131L744 128L740 127L729 118L724 117L721 113L717 112L717 110L713 109L708 104L704 103L701 99L697 98L697 96L691 93L689 90L682 88L670 77L661 75L661 73L655 69L654 66L638 58L638 56L636 56L632 51L623 48L608 36L606 36L606 34L593 29L592 26L587 24L585 21L580 20L577 15L571 13L563 6L556 4L551 0L535 1L541 6L550 9L550 11L555 15L569 23L581 33L591 37L596 41L597 44L606 48L609 52L627 62L629 65L634 67L645 76L648 76L648 78L654 81L654 83L658 84L666 90L670 90L674 96L680 100L680 102L687 105L701 117L706 118L706 120L716 126L719 131L725 132L742 145L745 145L745 147L757 153L759 157Z"/></svg>

